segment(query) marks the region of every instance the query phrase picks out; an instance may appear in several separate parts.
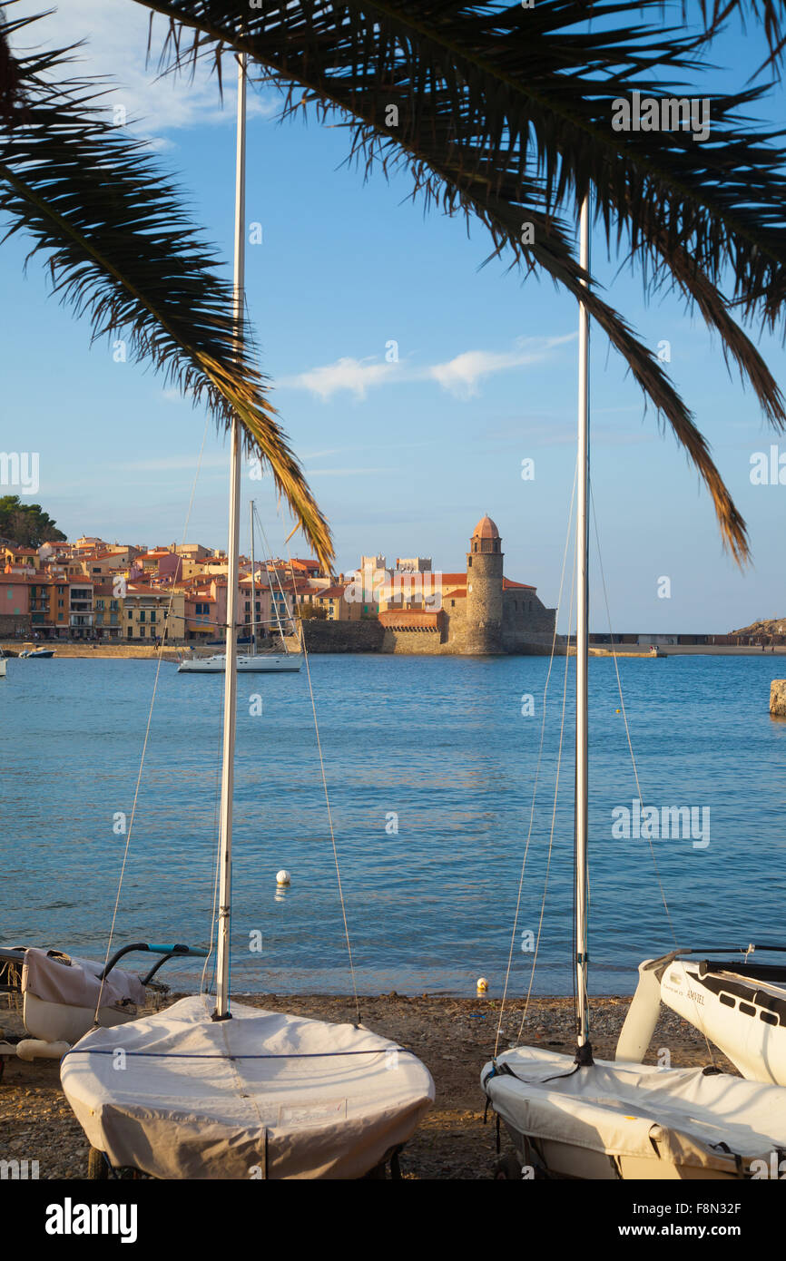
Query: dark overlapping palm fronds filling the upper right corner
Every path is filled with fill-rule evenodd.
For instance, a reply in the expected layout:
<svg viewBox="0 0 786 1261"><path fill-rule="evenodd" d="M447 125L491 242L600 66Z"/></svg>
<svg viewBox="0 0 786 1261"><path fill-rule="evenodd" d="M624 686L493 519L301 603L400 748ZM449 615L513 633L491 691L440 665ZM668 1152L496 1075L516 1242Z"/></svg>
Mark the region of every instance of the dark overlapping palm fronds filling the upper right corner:
<svg viewBox="0 0 786 1261"><path fill-rule="evenodd" d="M780 324L786 298L786 179L778 131L742 112L761 95L713 95L712 137L618 132L612 103L633 88L686 95L701 45L683 32L642 24L660 0L595 0L593 28L579 0L463 4L447 0L281 0L241 11L231 0L138 0L169 18L164 62L242 49L289 91L288 110L315 102L353 127L366 169L405 163L415 192L448 212L479 217L527 270L584 298L573 233L592 189L611 247L623 247L648 293L672 285L722 338L727 358L782 427L783 398L732 317ZM712 0L708 0L710 5ZM773 6L775 9L775 6ZM594 20L597 19L597 21ZM618 25L614 25L618 23ZM768 25L777 42L780 28ZM659 66L659 78L651 69ZM397 108L397 124L389 121ZM522 222L534 241L521 240ZM722 284L730 277L730 293ZM705 439L660 363L593 286L587 298L636 380L671 425L714 501L724 541L747 556L744 522Z"/></svg>

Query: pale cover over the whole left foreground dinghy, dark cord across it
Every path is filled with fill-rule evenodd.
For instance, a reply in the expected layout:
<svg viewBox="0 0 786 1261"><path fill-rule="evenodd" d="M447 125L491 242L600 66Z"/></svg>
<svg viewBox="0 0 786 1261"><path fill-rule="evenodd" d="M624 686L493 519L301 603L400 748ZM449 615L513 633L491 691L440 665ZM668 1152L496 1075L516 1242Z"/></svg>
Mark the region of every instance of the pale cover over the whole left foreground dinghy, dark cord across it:
<svg viewBox="0 0 786 1261"><path fill-rule="evenodd" d="M237 1002L231 1020L211 1020L213 1006L180 999L92 1030L63 1058L66 1097L112 1165L177 1179L360 1178L434 1098L424 1064L368 1029Z"/></svg>

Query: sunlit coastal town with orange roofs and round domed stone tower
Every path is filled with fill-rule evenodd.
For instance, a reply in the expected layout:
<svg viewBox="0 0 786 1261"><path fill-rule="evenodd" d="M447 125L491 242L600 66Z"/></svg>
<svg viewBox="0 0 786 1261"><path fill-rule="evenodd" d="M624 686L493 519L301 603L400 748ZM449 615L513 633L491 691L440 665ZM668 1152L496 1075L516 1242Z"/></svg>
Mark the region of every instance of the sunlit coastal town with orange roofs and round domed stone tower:
<svg viewBox="0 0 786 1261"><path fill-rule="evenodd" d="M0 637L33 642L185 644L221 641L227 618L225 552L201 543L145 547L82 536L38 547L0 542ZM313 559L240 559L238 638L294 633L298 623L339 624L343 651L483 654L545 652L555 609L534 586L502 572L502 541L484 516L463 571L443 572L424 556L361 556L331 574ZM331 632L327 632L328 634ZM409 649L408 649L409 646Z"/></svg>

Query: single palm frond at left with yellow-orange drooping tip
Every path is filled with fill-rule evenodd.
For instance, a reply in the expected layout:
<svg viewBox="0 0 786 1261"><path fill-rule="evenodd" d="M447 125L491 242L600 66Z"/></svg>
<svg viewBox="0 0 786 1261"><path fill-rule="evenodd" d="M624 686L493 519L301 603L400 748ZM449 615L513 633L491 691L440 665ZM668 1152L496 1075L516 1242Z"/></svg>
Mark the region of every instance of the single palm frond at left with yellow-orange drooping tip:
<svg viewBox="0 0 786 1261"><path fill-rule="evenodd" d="M0 211L6 236L25 232L45 253L54 291L93 338L122 333L131 354L206 404L220 429L236 415L245 446L270 467L278 492L329 567L333 546L265 378L251 362L250 330L232 318L221 260L191 223L177 189L144 142L115 127L93 81L58 83L69 49L14 55L21 26L0 11Z"/></svg>

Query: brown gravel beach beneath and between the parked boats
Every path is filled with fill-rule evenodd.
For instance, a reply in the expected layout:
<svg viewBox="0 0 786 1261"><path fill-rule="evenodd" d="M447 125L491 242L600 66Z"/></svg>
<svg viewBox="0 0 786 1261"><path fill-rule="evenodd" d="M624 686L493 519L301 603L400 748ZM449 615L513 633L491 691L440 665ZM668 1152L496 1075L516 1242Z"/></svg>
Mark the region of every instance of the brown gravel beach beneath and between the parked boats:
<svg viewBox="0 0 786 1261"><path fill-rule="evenodd" d="M177 997L182 995L172 995L172 1001ZM264 994L236 995L236 999L320 1020L341 1023L355 1018L348 997ZM599 1058L613 1057L630 1001L630 997L593 1000L592 1040ZM493 1052L500 1001L434 995L406 997L394 992L361 999L361 1014L370 1029L415 1050L437 1084L437 1102L402 1153L402 1175L413 1179L488 1178L496 1159L496 1134L493 1117L483 1125L479 1074ZM520 1035L522 1014L524 1000L506 1002L501 1048L531 1042L572 1052L572 999L531 999ZM0 1026L6 1034L23 1031L14 1009L0 1009ZM701 1034L671 1011L661 1014L647 1063L657 1062L661 1048L669 1050L674 1066L710 1063ZM718 1067L734 1071L714 1048L713 1059ZM87 1142L61 1091L56 1061L6 1061L0 1083L0 1159L38 1160L40 1179L85 1178Z"/></svg>

